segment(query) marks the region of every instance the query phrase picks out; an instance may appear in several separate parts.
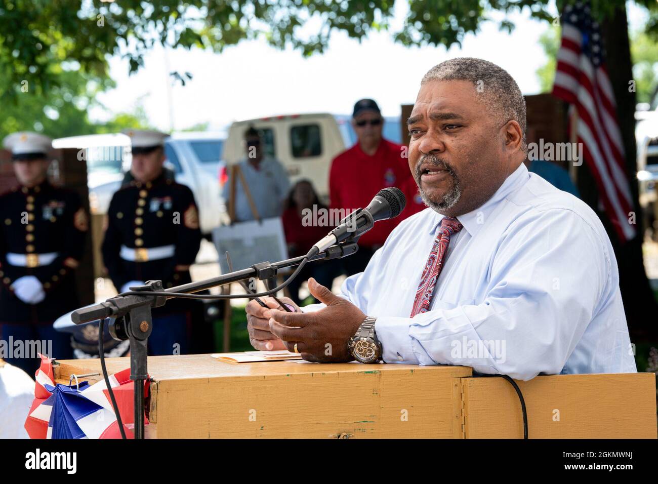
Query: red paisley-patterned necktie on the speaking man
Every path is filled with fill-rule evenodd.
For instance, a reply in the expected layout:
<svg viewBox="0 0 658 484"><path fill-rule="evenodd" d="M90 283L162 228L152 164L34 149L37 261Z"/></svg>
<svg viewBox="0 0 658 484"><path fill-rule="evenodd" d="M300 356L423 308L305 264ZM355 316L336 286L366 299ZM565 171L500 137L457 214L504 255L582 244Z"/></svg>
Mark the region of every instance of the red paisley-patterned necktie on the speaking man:
<svg viewBox="0 0 658 484"><path fill-rule="evenodd" d="M430 257L427 259L424 269L422 269L422 277L420 277L416 298L413 301L413 308L411 308L411 317L418 313L425 313L430 309L434 286L436 286L436 280L439 279L443 268L443 259L445 259L445 252L447 252L448 244L450 244L450 236L461 229L461 223L453 217L443 217L441 220L441 227L439 227L434 239L432 252L430 252Z"/></svg>

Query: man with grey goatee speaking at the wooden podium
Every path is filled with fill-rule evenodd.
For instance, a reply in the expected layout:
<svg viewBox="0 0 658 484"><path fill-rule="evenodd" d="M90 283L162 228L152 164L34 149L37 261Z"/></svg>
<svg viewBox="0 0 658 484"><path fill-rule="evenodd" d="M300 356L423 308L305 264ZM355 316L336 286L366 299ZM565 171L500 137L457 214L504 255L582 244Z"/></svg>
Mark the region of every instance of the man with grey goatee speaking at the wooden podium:
<svg viewBox="0 0 658 484"><path fill-rule="evenodd" d="M322 304L286 313L271 298L272 309L250 302L253 346L522 380L635 372L609 238L584 202L528 173L513 78L480 59L445 61L422 79L408 125L428 208L402 221L340 296L311 279Z"/></svg>

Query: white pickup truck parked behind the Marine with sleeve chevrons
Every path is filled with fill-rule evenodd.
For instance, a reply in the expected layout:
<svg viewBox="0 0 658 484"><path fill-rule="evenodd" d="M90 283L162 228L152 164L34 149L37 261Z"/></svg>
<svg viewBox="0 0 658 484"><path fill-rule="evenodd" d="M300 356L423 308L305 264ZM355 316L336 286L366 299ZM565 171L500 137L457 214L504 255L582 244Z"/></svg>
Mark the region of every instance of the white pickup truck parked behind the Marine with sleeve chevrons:
<svg viewBox="0 0 658 484"><path fill-rule="evenodd" d="M224 132L174 133L164 144L165 166L176 181L190 187L199 205L199 225L207 235L220 223L218 170L223 165ZM130 138L124 134L94 134L59 138L54 148L86 149L91 213L107 213L112 196L130 169Z"/></svg>

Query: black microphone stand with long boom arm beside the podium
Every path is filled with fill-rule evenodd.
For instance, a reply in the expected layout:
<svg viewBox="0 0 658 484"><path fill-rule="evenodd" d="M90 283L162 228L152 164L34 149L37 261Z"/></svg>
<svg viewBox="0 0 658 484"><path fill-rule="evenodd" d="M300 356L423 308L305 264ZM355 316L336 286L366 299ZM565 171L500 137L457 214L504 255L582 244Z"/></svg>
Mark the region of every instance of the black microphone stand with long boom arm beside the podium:
<svg viewBox="0 0 658 484"><path fill-rule="evenodd" d="M318 260L342 259L359 250L356 240L334 244L326 250L314 255L307 262ZM211 287L222 286L232 282L245 281L256 278L267 281L276 277L280 269L295 267L303 261L305 256L293 257L284 261L270 263L269 261L254 264L249 269L234 271L211 279L199 282L190 282L180 286L164 289L162 281L146 281L143 286L130 288L134 292L183 292L193 294ZM80 308L73 311L71 320L76 324L88 323L97 319L111 317L110 334L116 340L130 340L130 379L134 381L134 437L144 438L144 383L147 379L147 341L153 331L151 308L164 306L166 301L178 296L114 296L105 302ZM245 294L248 298L249 294ZM217 299L222 299L218 295Z"/></svg>

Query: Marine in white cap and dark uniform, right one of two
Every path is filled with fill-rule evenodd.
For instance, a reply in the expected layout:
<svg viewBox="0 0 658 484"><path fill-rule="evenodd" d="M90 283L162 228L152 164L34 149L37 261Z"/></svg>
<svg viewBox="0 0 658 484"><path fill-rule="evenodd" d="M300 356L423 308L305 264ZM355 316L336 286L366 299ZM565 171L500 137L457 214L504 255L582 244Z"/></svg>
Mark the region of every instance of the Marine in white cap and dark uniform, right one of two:
<svg viewBox="0 0 658 484"><path fill-rule="evenodd" d="M103 262L119 292L145 281L165 288L191 282L190 265L201 244L199 215L187 186L166 178L164 138L157 131L128 130L134 180L116 192L107 211ZM190 300L173 299L153 310L149 354L190 352Z"/></svg>

